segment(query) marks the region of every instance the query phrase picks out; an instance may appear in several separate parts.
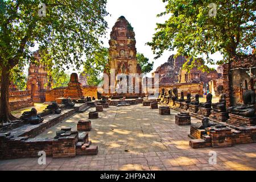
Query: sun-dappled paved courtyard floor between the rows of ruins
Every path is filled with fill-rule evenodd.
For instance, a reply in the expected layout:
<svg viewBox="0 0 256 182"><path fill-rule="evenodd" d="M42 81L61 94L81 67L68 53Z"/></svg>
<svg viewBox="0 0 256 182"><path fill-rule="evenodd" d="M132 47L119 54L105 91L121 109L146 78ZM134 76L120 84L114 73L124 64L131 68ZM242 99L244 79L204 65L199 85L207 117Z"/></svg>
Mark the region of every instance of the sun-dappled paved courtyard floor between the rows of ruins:
<svg viewBox="0 0 256 182"><path fill-rule="evenodd" d="M188 144L190 126L176 125L176 113L159 115L158 109L142 105L110 106L100 118L91 119L89 139L98 145L98 155L47 158L46 165L39 165L37 158L0 160L0 170L256 170L256 143L193 149ZM75 114L37 138L54 137L64 126L76 130L76 123L87 118L88 111ZM217 152L217 164L209 164L210 151Z"/></svg>

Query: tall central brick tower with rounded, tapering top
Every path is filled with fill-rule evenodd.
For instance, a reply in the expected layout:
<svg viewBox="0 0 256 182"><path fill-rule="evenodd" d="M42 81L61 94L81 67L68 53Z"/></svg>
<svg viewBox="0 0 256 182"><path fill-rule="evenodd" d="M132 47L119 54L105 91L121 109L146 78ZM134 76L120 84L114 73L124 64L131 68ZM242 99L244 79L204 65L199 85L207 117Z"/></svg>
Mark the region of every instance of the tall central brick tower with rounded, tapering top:
<svg viewBox="0 0 256 182"><path fill-rule="evenodd" d="M109 93L104 96L113 98L138 98L142 94L142 71L137 63L137 49L133 27L120 16L115 22L109 40L109 63L105 67L105 73L109 76ZM114 78L113 78L114 77Z"/></svg>

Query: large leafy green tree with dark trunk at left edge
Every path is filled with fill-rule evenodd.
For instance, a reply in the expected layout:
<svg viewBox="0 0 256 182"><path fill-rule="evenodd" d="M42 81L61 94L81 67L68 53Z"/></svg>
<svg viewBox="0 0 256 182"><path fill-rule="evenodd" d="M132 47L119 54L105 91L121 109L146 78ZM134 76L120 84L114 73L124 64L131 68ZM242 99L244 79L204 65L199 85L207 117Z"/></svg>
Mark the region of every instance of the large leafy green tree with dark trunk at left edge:
<svg viewBox="0 0 256 182"><path fill-rule="evenodd" d="M30 48L38 44L47 65L79 68L83 56L101 48L108 13L106 0L0 2L0 121L9 122L15 119L9 106L10 73L33 58Z"/></svg>

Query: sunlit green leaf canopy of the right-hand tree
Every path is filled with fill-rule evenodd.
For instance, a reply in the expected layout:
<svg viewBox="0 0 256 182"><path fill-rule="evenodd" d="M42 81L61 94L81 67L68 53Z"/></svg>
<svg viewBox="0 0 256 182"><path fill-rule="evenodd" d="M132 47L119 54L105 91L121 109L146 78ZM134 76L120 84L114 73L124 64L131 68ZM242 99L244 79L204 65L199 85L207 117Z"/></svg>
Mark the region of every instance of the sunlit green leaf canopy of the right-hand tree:
<svg viewBox="0 0 256 182"><path fill-rule="evenodd" d="M170 15L165 23L157 23L151 46L155 59L164 50L196 57L220 51L226 61L255 47L255 7L253 0L163 0Z"/></svg>

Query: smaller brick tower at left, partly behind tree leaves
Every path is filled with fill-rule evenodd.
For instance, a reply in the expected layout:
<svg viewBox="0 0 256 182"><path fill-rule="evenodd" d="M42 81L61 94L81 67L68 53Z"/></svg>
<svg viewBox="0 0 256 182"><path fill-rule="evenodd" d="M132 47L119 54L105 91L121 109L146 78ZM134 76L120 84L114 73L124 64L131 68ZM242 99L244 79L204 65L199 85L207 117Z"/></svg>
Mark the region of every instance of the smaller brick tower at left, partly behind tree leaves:
<svg viewBox="0 0 256 182"><path fill-rule="evenodd" d="M40 64L39 50L34 52L34 57L38 64L30 63L27 90L30 90L34 102L44 102L46 101L46 91L51 89L51 82L49 82L46 67Z"/></svg>

